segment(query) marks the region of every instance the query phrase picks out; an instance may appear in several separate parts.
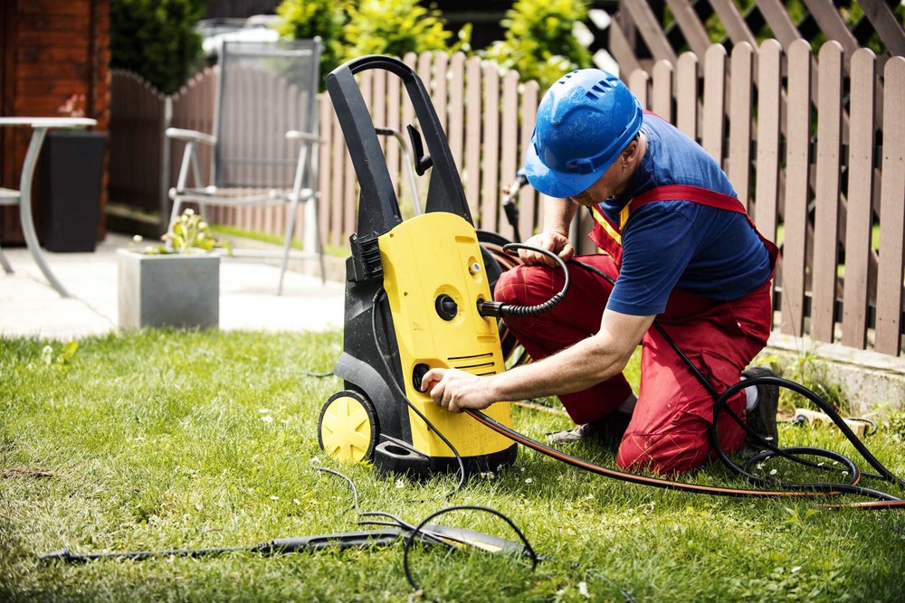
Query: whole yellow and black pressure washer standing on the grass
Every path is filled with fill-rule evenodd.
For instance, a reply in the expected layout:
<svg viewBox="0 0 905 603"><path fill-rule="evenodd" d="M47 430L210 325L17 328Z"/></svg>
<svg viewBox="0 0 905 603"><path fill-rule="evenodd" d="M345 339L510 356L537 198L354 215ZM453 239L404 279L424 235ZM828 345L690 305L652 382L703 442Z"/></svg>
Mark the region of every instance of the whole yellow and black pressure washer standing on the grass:
<svg viewBox="0 0 905 603"><path fill-rule="evenodd" d="M430 174L430 183L424 213L405 221L354 78L369 69L403 81L428 147L424 154L420 134L409 126L416 171ZM517 445L509 438L438 407L420 391L422 376L434 367L478 375L505 370L496 319L478 312L491 299L498 268L481 248L433 103L409 66L376 55L332 71L327 89L361 193L346 262L343 353L333 370L344 390L320 412L320 446L340 461L373 461L378 472L457 471L455 453L439 431L468 473L510 464ZM511 425L509 404L495 404L488 414Z"/></svg>

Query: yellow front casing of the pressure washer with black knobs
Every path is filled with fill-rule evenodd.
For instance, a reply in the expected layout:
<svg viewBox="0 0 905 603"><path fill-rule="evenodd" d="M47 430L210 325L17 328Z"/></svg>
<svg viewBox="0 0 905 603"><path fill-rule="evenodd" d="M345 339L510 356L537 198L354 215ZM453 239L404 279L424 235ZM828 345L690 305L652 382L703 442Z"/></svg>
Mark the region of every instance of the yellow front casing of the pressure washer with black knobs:
<svg viewBox="0 0 905 603"><path fill-rule="evenodd" d="M462 457L510 448L509 438L467 415L438 407L412 384L414 367L420 363L479 375L505 370L496 320L478 314L478 301L491 299L491 290L474 227L461 216L430 212L398 224L381 235L378 244L408 400ZM452 320L444 320L435 309L435 300L442 295L455 301L457 314ZM507 403L494 404L487 414L511 425ZM453 456L411 409L409 423L414 448L431 457Z"/></svg>

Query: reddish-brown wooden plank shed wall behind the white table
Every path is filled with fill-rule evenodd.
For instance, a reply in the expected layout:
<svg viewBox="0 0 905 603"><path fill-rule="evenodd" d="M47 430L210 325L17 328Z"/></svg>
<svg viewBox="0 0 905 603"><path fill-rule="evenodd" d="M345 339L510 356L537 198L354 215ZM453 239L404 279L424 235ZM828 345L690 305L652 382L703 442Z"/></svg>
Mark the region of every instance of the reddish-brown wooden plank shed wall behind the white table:
<svg viewBox="0 0 905 603"><path fill-rule="evenodd" d="M107 130L110 0L0 0L0 50L0 115L57 117L57 109L71 95L84 94L86 117L98 120L97 130ZM26 127L3 128L2 185L19 188L30 137ZM104 191L106 180L105 169ZM38 216L40 190L36 197ZM100 203L99 239L106 233L106 192ZM18 209L0 212L0 240L21 242Z"/></svg>

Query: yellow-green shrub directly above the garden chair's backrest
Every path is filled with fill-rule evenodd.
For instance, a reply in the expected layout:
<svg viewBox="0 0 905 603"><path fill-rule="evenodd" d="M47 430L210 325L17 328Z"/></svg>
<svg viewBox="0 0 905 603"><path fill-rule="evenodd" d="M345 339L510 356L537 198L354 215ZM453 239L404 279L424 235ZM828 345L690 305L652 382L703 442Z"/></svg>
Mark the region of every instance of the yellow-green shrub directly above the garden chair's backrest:
<svg viewBox="0 0 905 603"><path fill-rule="evenodd" d="M348 21L345 2L337 0L283 0L277 6L281 22L277 31L284 38L293 40L320 37L321 86L323 76L342 62L342 32Z"/></svg>

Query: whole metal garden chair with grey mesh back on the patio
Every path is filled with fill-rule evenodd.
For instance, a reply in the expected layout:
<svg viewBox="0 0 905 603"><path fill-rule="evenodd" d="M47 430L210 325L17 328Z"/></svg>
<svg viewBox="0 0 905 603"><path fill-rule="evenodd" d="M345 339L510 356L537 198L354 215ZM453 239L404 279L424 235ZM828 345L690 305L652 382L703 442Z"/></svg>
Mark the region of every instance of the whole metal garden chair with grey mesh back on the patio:
<svg viewBox="0 0 905 603"><path fill-rule="evenodd" d="M167 137L186 143L176 187L169 192L170 230L184 203L197 203L203 213L208 205L288 206L279 255L280 295L300 203L305 228L299 257L319 259L324 278L316 188L320 41L224 42L218 56L214 134L167 129ZM199 145L213 150L209 183L200 177ZM193 187L187 186L190 175ZM233 255L275 254L235 250Z"/></svg>

